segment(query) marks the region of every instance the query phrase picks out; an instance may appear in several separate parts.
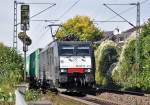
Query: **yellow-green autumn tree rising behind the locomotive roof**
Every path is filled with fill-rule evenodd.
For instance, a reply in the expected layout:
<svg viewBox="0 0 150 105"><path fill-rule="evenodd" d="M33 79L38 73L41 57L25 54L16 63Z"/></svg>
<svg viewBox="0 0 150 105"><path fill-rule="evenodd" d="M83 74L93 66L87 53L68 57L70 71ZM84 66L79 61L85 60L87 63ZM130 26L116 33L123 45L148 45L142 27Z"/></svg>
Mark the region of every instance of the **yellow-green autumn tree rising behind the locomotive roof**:
<svg viewBox="0 0 150 105"><path fill-rule="evenodd" d="M68 40L97 41L102 38L102 34L103 32L95 27L89 17L76 16L63 24L56 33L56 38L58 40L67 37Z"/></svg>

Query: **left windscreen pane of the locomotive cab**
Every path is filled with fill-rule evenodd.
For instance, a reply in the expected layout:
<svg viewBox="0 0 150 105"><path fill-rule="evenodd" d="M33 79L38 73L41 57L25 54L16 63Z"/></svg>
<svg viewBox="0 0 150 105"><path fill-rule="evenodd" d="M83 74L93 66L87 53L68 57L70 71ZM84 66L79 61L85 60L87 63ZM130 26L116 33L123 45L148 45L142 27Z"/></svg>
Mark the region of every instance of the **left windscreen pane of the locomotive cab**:
<svg viewBox="0 0 150 105"><path fill-rule="evenodd" d="M73 55L74 47L73 46L61 46L60 55Z"/></svg>

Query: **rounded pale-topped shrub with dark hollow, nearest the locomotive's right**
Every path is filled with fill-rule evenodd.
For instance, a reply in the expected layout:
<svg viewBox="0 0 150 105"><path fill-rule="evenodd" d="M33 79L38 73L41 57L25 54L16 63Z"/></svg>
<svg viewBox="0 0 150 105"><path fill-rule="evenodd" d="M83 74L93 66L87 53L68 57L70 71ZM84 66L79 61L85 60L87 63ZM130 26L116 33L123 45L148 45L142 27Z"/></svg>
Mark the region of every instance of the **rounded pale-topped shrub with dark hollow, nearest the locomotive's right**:
<svg viewBox="0 0 150 105"><path fill-rule="evenodd" d="M119 55L119 48L117 47L117 44L115 44L113 41L106 40L102 42L101 45L97 48L95 58L96 58L96 81L98 84L104 86L109 84L111 76L108 73L109 72L108 69L110 68L111 64L117 61L118 55ZM111 59L112 62L108 62L109 60L108 57L112 58Z"/></svg>

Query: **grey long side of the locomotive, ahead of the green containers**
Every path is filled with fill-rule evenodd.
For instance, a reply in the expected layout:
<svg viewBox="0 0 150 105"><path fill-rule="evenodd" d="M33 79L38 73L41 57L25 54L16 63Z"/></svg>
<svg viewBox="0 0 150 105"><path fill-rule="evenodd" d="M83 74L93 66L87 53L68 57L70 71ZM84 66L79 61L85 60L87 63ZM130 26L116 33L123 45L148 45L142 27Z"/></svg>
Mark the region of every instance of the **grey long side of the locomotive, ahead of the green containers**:
<svg viewBox="0 0 150 105"><path fill-rule="evenodd" d="M58 48L57 42L48 45L40 54L40 78L47 84L56 87L58 78Z"/></svg>

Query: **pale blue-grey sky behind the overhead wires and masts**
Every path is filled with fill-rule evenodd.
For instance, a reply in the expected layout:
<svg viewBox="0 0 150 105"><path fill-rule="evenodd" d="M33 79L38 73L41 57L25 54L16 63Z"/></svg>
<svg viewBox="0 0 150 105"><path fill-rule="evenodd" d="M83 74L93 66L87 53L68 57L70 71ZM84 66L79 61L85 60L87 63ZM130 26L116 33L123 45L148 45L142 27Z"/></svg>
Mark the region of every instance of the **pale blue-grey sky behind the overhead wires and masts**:
<svg viewBox="0 0 150 105"><path fill-rule="evenodd" d="M43 48L52 41L51 31L48 27L52 22L33 21L33 20L59 20L55 23L62 24L66 20L73 18L76 15L89 16L91 20L95 21L118 21L122 19L103 4L128 4L141 2L141 24L150 18L150 0L18 0L17 2L29 3L30 16L42 11L50 6L50 4L30 4L30 3L56 3L47 11L33 17L30 21L30 29L27 35L32 39L32 44L28 48L28 53ZM74 5L75 4L75 5ZM73 6L74 5L74 6ZM72 7L73 6L73 7ZM20 22L20 4L18 4L18 23ZM72 8L71 8L72 7ZM131 5L109 5L117 13L126 18L132 24L136 25L136 6ZM13 25L14 25L14 1L3 0L0 3L0 42L7 46L13 46ZM119 28L125 31L132 28L128 23L112 23L112 22L98 22L95 23L96 27L103 31L112 31ZM55 27L53 32L55 32ZM20 25L18 25L18 33L21 32ZM18 51L22 52L22 43L18 39Z"/></svg>

